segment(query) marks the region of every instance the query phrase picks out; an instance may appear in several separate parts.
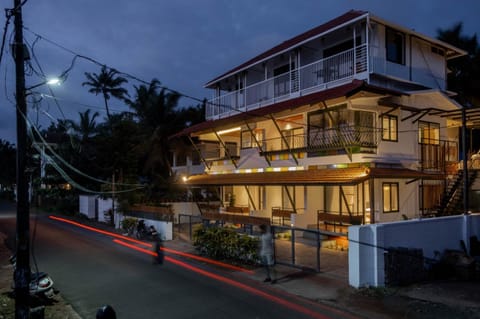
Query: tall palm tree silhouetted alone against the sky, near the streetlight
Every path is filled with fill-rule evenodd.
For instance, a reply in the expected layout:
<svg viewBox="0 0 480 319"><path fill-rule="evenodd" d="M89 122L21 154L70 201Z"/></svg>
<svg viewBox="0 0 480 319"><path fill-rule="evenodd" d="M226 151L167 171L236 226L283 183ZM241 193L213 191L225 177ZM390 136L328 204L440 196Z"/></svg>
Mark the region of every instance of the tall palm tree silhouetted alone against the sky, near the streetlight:
<svg viewBox="0 0 480 319"><path fill-rule="evenodd" d="M126 89L121 85L127 83L127 79L117 76L118 72L114 69L108 69L106 66L102 67L100 74L85 72L88 81L82 83L82 86L89 86L88 92L95 93L95 95L102 94L105 101L105 109L107 111L107 118L110 120L110 109L108 108L108 100L110 97L123 100L128 96Z"/></svg>

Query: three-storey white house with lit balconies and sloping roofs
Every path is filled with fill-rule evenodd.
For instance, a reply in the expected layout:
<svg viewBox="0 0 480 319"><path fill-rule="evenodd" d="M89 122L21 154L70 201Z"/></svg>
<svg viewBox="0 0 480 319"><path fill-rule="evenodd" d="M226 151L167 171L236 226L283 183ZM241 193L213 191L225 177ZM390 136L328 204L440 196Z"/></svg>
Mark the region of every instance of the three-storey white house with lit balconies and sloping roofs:
<svg viewBox="0 0 480 319"><path fill-rule="evenodd" d="M349 11L209 81L207 120L177 134L192 148L174 170L225 206L291 212L299 227L418 217L456 174L447 61L464 54Z"/></svg>

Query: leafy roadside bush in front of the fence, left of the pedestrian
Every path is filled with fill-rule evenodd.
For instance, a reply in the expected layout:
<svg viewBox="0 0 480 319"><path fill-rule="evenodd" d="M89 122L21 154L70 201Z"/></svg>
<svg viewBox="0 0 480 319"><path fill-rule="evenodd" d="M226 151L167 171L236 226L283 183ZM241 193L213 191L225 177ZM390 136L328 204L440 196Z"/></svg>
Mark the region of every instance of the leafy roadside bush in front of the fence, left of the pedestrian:
<svg viewBox="0 0 480 319"><path fill-rule="evenodd" d="M200 227L194 231L193 239L195 248L208 257L245 264L258 263L259 240L256 237L224 227Z"/></svg>

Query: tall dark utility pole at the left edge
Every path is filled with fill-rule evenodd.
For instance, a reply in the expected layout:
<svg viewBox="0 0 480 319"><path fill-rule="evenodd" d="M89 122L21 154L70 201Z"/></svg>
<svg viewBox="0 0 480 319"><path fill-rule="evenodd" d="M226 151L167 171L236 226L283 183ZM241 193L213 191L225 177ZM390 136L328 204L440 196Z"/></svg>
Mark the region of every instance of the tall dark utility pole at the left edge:
<svg viewBox="0 0 480 319"><path fill-rule="evenodd" d="M17 102L17 241L15 281L15 318L29 318L30 283L30 207L28 202L27 167L27 101L25 93L25 56L23 44L22 3L13 1L15 17L14 59Z"/></svg>

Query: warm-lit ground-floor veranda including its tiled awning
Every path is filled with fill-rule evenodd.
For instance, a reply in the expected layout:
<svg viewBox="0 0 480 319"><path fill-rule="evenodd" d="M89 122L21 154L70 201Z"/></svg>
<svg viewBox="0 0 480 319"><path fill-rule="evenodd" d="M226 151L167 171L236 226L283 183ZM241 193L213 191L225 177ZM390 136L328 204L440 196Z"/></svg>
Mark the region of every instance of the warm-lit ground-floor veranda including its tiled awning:
<svg viewBox="0 0 480 319"><path fill-rule="evenodd" d="M216 193L217 203L199 204L202 214L222 214L211 219L258 217L274 225L339 233L352 224L421 217L438 205L445 187L441 174L365 167L205 174L191 176L187 184L192 191Z"/></svg>

